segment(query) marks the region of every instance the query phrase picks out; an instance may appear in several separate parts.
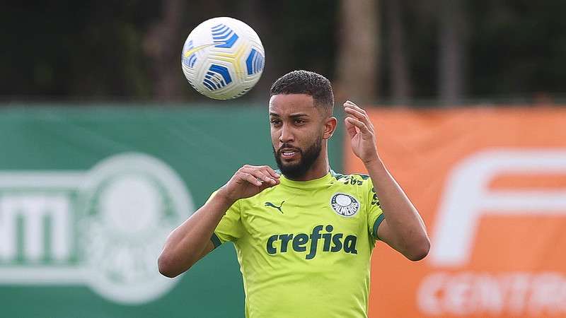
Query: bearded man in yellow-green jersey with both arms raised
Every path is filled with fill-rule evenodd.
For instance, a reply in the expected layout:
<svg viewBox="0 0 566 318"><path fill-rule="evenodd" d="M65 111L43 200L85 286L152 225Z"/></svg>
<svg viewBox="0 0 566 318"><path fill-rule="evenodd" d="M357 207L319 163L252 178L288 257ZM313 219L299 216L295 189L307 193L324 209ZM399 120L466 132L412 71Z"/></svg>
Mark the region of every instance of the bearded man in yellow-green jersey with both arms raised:
<svg viewBox="0 0 566 318"><path fill-rule="evenodd" d="M330 170L333 107L323 76L292 71L279 78L269 116L280 172L241 167L173 230L159 271L177 276L231 241L243 274L246 317L366 317L376 240L412 261L427 255L429 240L417 210L379 158L369 117L350 101L344 103L347 133L369 176Z"/></svg>

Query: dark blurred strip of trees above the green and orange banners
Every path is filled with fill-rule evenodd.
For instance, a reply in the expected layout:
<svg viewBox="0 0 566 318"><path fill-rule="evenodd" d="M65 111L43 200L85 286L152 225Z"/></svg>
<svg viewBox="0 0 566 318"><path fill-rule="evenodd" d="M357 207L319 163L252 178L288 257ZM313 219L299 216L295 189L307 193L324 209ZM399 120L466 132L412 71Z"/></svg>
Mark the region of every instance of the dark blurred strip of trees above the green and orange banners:
<svg viewBox="0 0 566 318"><path fill-rule="evenodd" d="M180 71L192 28L244 20L267 64L238 102L311 69L340 96L396 105L553 102L564 94L564 1L8 1L0 95L14 100L208 102Z"/></svg>

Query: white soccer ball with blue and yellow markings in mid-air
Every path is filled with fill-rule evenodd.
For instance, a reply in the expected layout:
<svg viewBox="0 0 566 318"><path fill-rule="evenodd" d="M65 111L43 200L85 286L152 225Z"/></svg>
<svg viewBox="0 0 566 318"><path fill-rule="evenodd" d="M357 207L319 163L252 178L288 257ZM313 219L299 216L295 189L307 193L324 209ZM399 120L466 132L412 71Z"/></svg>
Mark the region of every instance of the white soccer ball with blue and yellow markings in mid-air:
<svg viewBox="0 0 566 318"><path fill-rule="evenodd" d="M183 46L181 66L190 85L216 100L246 94L265 64L260 37L234 18L212 18L197 25Z"/></svg>

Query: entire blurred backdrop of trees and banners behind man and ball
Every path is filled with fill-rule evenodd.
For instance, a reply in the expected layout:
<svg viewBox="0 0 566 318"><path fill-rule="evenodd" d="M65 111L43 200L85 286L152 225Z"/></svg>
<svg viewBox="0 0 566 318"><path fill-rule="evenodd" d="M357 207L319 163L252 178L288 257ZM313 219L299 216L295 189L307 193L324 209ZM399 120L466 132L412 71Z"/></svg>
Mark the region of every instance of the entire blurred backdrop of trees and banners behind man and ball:
<svg viewBox="0 0 566 318"><path fill-rule="evenodd" d="M0 10L0 317L243 317L223 245L175 280L167 233L245 163L275 167L265 107L295 69L364 105L432 239L378 242L370 317L566 317L566 2L8 1ZM265 47L249 93L180 67L203 20ZM342 112L337 107L337 116ZM342 130L333 169L363 172Z"/></svg>

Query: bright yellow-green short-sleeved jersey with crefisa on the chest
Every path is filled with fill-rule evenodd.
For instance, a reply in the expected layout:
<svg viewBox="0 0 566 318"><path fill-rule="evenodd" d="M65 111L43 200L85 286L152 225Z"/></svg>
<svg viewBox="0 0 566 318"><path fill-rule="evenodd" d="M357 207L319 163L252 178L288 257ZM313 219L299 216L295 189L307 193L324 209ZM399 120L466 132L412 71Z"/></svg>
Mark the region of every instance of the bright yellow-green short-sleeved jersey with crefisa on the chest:
<svg viewBox="0 0 566 318"><path fill-rule="evenodd" d="M371 179L330 171L280 181L236 201L212 236L214 247L236 246L246 317L367 317L371 251L383 220Z"/></svg>

